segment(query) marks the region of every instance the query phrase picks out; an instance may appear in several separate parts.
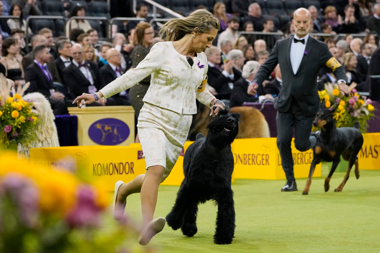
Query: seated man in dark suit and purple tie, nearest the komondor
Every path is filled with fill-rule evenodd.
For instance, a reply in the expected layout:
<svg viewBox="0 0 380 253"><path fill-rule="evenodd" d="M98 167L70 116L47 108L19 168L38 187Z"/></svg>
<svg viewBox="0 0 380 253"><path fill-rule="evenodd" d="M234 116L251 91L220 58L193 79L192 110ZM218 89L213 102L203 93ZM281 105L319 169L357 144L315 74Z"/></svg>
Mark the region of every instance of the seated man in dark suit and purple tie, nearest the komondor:
<svg viewBox="0 0 380 253"><path fill-rule="evenodd" d="M35 60L25 70L25 81L30 82L28 93L39 92L50 102L54 115L67 114L65 96L60 92L55 92L53 77L47 68L50 60L49 47L45 45L37 46L33 50Z"/></svg>

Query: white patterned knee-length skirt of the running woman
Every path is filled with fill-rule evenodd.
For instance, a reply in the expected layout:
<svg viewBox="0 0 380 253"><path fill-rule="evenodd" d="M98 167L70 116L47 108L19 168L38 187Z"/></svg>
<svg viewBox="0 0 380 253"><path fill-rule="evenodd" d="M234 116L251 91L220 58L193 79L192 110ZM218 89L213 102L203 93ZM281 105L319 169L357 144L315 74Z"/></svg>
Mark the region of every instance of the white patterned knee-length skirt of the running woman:
<svg viewBox="0 0 380 253"><path fill-rule="evenodd" d="M144 103L137 128L146 169L161 165L165 168L162 181L170 174L185 145L192 115L176 113Z"/></svg>

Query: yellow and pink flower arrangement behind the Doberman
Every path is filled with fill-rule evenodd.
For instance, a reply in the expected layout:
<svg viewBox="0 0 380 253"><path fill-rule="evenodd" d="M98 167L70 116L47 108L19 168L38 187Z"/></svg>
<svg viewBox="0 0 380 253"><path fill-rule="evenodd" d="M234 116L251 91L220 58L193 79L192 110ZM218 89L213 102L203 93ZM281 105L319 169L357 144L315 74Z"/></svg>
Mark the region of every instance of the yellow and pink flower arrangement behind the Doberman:
<svg viewBox="0 0 380 253"><path fill-rule="evenodd" d="M336 127L353 127L355 121L359 122L360 132L367 132L367 120L374 116L374 106L370 99L360 96L356 89L352 89L348 96L344 96L336 84L326 83L325 90L318 91L321 102L326 108L337 104L334 111Z"/></svg>

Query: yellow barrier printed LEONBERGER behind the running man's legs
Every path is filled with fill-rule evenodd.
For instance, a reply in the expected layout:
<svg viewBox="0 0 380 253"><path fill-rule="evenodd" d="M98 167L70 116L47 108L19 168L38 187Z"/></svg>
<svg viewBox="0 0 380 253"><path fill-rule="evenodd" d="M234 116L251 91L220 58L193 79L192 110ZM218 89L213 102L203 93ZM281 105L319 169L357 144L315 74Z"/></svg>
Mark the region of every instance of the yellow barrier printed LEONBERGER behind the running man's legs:
<svg viewBox="0 0 380 253"><path fill-rule="evenodd" d="M231 145L234 155L234 176L244 179L285 179L276 138L236 139ZM301 152L291 142L294 161L294 177L307 178L313 151ZM315 168L313 177L321 176L321 164Z"/></svg>

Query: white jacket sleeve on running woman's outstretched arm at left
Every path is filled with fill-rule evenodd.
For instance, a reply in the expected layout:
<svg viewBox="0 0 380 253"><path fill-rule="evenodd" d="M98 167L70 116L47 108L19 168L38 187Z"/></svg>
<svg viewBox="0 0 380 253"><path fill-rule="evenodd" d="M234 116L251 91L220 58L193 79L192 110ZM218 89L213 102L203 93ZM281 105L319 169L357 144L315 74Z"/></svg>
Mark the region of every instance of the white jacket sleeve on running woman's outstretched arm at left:
<svg viewBox="0 0 380 253"><path fill-rule="evenodd" d="M107 98L131 88L148 75L160 70L164 58L165 47L161 46L160 43L155 44L144 60L142 60L136 68L128 70L121 77L118 77L106 85L100 90L100 92L103 94L104 98Z"/></svg>

